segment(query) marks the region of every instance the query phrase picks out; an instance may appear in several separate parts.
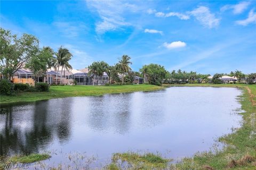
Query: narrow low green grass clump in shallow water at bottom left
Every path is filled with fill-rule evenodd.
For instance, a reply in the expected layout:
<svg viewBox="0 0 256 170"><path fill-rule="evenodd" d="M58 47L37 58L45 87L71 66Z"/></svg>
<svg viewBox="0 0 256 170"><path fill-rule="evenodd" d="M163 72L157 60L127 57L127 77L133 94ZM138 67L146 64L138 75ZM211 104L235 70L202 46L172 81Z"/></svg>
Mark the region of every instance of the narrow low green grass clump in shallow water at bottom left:
<svg viewBox="0 0 256 170"><path fill-rule="evenodd" d="M49 159L51 156L49 154L30 154L30 155L25 155L25 156L12 156L9 158L9 162L11 163L34 163L38 162L40 160L45 160Z"/></svg>

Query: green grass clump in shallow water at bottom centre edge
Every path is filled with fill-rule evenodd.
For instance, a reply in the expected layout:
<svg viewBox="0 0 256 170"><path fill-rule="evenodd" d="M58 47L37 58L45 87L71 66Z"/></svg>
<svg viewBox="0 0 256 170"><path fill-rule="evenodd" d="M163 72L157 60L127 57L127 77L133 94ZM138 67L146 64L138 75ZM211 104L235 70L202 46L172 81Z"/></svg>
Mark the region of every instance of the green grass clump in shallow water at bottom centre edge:
<svg viewBox="0 0 256 170"><path fill-rule="evenodd" d="M138 154L137 152L116 153L112 157L112 169L165 169L170 159L165 159L161 155L146 153ZM114 168L115 167L115 168ZM109 168L111 169L111 168Z"/></svg>

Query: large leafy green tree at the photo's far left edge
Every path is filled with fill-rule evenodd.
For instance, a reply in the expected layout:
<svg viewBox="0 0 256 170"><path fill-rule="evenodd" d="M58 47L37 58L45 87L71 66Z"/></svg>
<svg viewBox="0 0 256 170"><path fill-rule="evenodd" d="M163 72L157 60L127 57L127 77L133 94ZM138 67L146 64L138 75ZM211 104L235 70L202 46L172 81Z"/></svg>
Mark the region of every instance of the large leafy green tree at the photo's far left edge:
<svg viewBox="0 0 256 170"><path fill-rule="evenodd" d="M0 71L5 78L11 79L38 52L39 41L36 37L26 33L18 37L12 35L11 31L0 28Z"/></svg>

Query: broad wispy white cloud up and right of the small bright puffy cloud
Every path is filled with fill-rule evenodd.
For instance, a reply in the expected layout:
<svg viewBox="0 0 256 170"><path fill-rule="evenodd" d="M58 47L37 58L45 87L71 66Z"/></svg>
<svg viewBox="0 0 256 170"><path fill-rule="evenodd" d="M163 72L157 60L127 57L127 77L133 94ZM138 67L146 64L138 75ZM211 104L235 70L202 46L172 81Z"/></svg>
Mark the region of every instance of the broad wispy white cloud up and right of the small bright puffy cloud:
<svg viewBox="0 0 256 170"><path fill-rule="evenodd" d="M220 19L215 18L215 15L210 12L208 7L205 6L199 6L189 13L195 16L195 18L205 27L217 27L220 23Z"/></svg>

